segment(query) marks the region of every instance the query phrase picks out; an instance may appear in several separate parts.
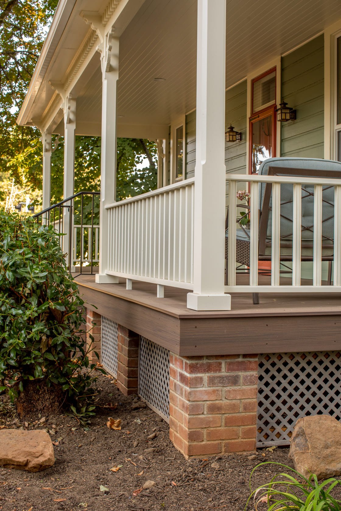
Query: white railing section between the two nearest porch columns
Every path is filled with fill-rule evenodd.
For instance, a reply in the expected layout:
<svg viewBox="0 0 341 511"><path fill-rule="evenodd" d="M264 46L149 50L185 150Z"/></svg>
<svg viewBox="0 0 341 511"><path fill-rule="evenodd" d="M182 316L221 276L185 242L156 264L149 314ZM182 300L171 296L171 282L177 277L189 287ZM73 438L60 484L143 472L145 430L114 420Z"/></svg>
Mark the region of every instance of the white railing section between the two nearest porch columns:
<svg viewBox="0 0 341 511"><path fill-rule="evenodd" d="M106 210L107 274L193 289L194 178Z"/></svg>

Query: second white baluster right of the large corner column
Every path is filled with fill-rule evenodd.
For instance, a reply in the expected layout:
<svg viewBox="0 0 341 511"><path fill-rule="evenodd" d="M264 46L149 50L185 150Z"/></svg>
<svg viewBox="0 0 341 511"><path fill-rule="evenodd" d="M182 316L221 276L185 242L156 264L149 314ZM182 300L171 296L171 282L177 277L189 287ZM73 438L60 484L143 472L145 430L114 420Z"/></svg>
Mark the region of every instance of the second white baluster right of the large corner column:
<svg viewBox="0 0 341 511"><path fill-rule="evenodd" d="M258 211L259 183L250 183L250 286L258 285ZM230 213L229 213L230 216ZM229 235L230 237L230 235ZM230 259L230 254L229 254Z"/></svg>

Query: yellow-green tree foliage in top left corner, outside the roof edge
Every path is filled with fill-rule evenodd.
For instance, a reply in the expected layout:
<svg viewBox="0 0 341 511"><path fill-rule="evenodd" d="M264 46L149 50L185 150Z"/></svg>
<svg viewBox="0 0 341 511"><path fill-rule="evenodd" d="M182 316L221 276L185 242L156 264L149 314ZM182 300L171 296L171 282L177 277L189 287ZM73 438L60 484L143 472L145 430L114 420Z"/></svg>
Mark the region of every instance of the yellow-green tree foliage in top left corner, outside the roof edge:
<svg viewBox="0 0 341 511"><path fill-rule="evenodd" d="M0 170L39 137L15 121L58 0L0 0ZM41 151L40 151L41 153ZM27 165L25 165L28 168ZM11 175L22 182L20 166Z"/></svg>

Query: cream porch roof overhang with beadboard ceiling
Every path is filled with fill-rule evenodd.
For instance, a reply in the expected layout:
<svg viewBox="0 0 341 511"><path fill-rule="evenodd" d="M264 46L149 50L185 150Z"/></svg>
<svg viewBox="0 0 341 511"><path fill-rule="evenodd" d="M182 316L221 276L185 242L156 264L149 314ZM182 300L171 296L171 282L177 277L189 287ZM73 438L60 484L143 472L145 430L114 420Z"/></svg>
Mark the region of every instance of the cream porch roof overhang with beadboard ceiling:
<svg viewBox="0 0 341 511"><path fill-rule="evenodd" d="M80 14L96 11L109 22L117 12L118 135L164 137L172 121L196 107L196 10L197 0L60 0L18 124L46 129L50 123L50 131L62 133L61 101L49 85L61 82L77 97L76 133L100 135L98 42L93 35L86 55L93 31ZM321 33L340 15L338 0L247 0L242 8L228 0L226 88Z"/></svg>

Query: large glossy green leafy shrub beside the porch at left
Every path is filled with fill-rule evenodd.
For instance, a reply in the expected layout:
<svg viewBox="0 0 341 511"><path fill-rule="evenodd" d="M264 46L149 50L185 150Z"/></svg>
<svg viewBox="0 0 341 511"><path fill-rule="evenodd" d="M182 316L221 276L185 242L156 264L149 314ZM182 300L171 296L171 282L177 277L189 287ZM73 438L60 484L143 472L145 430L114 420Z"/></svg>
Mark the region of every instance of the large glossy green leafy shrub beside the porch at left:
<svg viewBox="0 0 341 511"><path fill-rule="evenodd" d="M0 391L14 400L35 383L57 387L73 411L93 414L83 304L53 227L0 212Z"/></svg>

